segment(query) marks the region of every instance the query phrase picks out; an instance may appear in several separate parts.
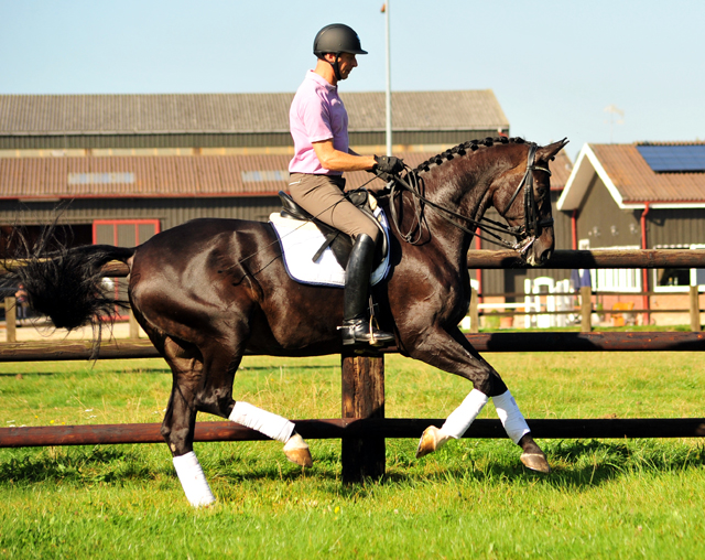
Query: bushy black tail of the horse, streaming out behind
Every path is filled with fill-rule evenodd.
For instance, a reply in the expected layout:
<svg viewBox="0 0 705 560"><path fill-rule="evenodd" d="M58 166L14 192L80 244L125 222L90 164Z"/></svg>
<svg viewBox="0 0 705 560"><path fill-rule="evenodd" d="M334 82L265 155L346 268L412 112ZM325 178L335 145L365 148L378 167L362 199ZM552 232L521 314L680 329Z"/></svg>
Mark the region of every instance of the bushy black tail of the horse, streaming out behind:
<svg viewBox="0 0 705 560"><path fill-rule="evenodd" d="M116 306L129 305L104 288L101 267L111 260L127 262L135 249L109 245L68 248L47 235L33 246L23 238L20 241L15 257L21 260L4 262L8 273L2 283L22 284L29 305L51 317L56 327L70 331L90 324L97 334L94 341L99 342L106 319L115 319Z"/></svg>

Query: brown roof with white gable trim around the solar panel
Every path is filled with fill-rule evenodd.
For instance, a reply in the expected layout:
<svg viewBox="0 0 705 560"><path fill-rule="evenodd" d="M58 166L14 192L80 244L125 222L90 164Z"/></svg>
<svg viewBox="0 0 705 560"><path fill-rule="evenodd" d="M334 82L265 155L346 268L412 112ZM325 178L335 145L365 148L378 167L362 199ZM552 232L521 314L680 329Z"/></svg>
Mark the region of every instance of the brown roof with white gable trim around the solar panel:
<svg viewBox="0 0 705 560"><path fill-rule="evenodd" d="M641 143L586 143L568 177L557 207L577 209L595 175L620 208L705 207L705 172L653 171L639 153ZM648 146L705 146L705 142L650 142Z"/></svg>

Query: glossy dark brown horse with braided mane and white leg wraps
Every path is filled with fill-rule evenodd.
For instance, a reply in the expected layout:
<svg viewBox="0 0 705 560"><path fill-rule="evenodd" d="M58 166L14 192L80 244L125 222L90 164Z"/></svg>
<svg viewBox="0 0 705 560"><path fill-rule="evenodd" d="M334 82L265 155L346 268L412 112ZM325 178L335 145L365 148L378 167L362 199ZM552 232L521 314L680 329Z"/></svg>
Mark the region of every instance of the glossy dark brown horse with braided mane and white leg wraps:
<svg viewBox="0 0 705 560"><path fill-rule="evenodd" d="M423 456L459 438L489 398L529 469L550 472L545 454L500 375L458 329L470 302L467 251L485 212L495 207L529 265L554 249L549 162L565 140L539 147L520 138L487 138L456 146L409 170L379 204L392 215L391 270L376 284L380 327L399 352L473 384L463 403L437 429L429 427ZM410 182L415 187L410 187ZM519 194L523 190L523 196ZM469 226L469 227L468 227ZM490 231L491 233L491 231ZM313 356L343 352L343 290L297 283L282 262L270 224L200 218L164 230L134 248L84 246L35 251L14 272L30 304L56 326L97 325L115 309L100 290L100 268L124 262L129 305L173 373L161 433L187 499L213 503L193 453L197 412L257 429L284 443L286 457L310 466L305 441L289 420L236 401L232 383L242 356Z"/></svg>

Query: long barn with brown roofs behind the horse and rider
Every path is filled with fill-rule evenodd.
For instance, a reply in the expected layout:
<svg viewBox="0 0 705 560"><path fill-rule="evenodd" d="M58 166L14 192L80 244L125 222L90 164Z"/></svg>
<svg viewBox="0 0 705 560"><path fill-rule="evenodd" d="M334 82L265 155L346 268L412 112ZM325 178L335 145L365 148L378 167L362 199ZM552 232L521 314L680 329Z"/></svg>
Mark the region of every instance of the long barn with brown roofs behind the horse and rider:
<svg viewBox="0 0 705 560"><path fill-rule="evenodd" d="M352 148L383 153L384 95L341 97ZM37 235L42 224L57 220L70 228L70 244L133 246L197 217L267 220L286 189L292 98L0 96L0 227L21 225ZM412 166L460 142L509 133L491 90L397 91L392 105L393 151ZM555 200L571 165L561 155L552 168ZM370 179L347 176L351 186ZM566 224L557 216L558 248L567 248ZM527 272L482 274L484 291L502 293L523 289Z"/></svg>

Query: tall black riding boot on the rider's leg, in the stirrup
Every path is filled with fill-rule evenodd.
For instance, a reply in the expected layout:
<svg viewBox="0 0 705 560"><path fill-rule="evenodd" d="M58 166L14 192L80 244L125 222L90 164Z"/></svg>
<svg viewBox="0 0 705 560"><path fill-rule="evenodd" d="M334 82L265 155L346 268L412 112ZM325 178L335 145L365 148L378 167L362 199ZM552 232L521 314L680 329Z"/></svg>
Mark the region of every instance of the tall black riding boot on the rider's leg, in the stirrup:
<svg viewBox="0 0 705 560"><path fill-rule="evenodd" d="M343 344L373 344L381 346L394 342L394 335L371 330L367 319L370 271L375 258L375 241L367 234L360 234L345 271L345 295L343 309Z"/></svg>

